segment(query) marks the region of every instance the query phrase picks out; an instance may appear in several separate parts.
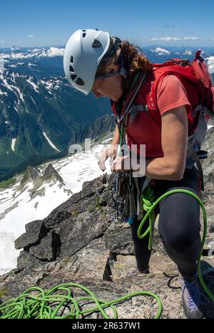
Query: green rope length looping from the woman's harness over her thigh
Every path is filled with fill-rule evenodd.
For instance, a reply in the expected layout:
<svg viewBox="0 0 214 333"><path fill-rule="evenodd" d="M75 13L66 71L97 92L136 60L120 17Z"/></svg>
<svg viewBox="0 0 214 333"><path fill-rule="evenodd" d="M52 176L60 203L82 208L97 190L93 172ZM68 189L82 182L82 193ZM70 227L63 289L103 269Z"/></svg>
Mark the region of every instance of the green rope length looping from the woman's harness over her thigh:
<svg viewBox="0 0 214 333"><path fill-rule="evenodd" d="M152 194L152 192L153 192L153 194ZM203 289L205 290L207 295L210 297L210 300L212 300L214 302L214 295L212 294L212 292L210 292L208 287L205 285L205 282L203 280L203 276L202 276L202 273L201 273L201 269L200 269L201 257L203 255L203 248L204 248L204 245L205 245L205 240L206 240L206 236L207 236L207 232L208 232L208 219L207 219L207 215L206 215L206 211L205 211L205 206L196 194L194 194L191 191L185 190L185 189L175 189L175 190L166 192L165 194L160 196L155 201L155 191L153 191L151 186L148 186L147 191L143 191L143 198L142 198L143 203L144 203L143 208L145 209L145 211L147 211L147 213L143 217L143 220L141 221L141 224L138 228L138 238L144 238L149 233L148 249L151 250L152 240L153 240L153 227L154 227L154 223L155 223L155 220L156 220L154 210L155 210L156 206L158 205L158 203L161 200L163 200L164 198L170 196L171 194L175 194L175 193L184 193L184 194L188 194L189 196L193 196L193 198L195 198L195 200L198 201L198 203L200 205L200 208L203 212L204 228L203 228L203 239L202 239L202 242L201 242L200 253L198 255L198 277L199 277L201 285L203 286ZM148 226L146 232L143 233L143 235L141 235L142 228L145 225L148 218L149 218L149 226Z"/></svg>

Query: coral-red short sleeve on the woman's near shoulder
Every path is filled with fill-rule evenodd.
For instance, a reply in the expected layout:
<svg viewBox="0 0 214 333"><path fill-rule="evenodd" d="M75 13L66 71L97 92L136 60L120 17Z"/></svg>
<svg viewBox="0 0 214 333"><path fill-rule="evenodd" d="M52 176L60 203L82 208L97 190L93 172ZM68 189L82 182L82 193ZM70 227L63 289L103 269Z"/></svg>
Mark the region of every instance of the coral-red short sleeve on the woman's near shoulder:
<svg viewBox="0 0 214 333"><path fill-rule="evenodd" d="M191 110L185 88L175 75L166 75L161 80L157 87L156 96L161 115L180 106L186 106L188 112Z"/></svg>

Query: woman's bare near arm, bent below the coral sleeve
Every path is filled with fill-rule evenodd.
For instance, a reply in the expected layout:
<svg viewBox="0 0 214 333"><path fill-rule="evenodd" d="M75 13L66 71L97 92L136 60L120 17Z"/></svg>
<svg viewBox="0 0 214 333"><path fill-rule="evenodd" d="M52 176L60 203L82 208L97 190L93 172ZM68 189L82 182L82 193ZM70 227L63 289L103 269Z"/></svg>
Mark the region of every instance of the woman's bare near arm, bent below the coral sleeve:
<svg viewBox="0 0 214 333"><path fill-rule="evenodd" d="M146 161L146 176L180 180L185 170L188 147L188 117L185 106L165 112L162 119L163 157Z"/></svg>

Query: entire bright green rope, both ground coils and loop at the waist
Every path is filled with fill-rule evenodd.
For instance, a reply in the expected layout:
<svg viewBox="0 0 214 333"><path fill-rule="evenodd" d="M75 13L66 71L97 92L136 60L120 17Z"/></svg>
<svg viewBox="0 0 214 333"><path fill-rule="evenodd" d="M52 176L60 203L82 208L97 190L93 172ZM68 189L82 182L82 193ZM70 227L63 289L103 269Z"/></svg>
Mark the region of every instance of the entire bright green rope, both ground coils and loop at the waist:
<svg viewBox="0 0 214 333"><path fill-rule="evenodd" d="M198 277L200 279L201 285L203 286L203 289L208 294L210 299L214 302L214 295L205 285L200 270L200 260L203 253L203 247L205 245L208 223L205 206L203 205L203 202L198 196L188 190L176 189L173 191L168 191L155 201L153 189L151 189L151 186L148 186L148 189L143 194L143 208L145 211L147 211L147 213L138 228L138 237L143 238L146 237L148 233L150 233L149 249L152 248L153 226L155 223L154 209L161 200L175 193L185 193L193 196L193 198L198 201L198 203L200 204L200 208L203 211L204 230L200 255L198 256ZM143 233L143 235L141 235L142 228L148 218L149 227L147 231ZM79 297L76 300L73 297L73 292L71 290L71 288L73 287L81 288L81 290L84 290L89 295L89 297ZM39 295L35 295L36 292L37 294L39 293ZM62 292L66 292L66 295L62 294ZM91 290L88 290L82 285L78 285L77 283L65 283L63 285L58 285L50 290L43 290L40 287L29 288L19 297L13 300L9 300L8 302L0 305L0 319L78 319L83 317L85 314L98 311L101 312L105 319L109 319L108 314L106 314L105 311L105 309L108 307L110 307L113 311L113 319L116 319L117 312L115 305L138 295L150 296L156 300L156 302L158 303L158 311L155 315L155 318L160 318L163 310L162 303L158 295L153 294L152 292L132 292L131 294L128 294L124 297L106 302L105 300L98 299L93 294L93 292L91 292ZM90 309L82 310L83 305L81 305L80 303L86 301L93 301L96 306ZM63 315L63 309L65 307L69 307L69 314Z"/></svg>

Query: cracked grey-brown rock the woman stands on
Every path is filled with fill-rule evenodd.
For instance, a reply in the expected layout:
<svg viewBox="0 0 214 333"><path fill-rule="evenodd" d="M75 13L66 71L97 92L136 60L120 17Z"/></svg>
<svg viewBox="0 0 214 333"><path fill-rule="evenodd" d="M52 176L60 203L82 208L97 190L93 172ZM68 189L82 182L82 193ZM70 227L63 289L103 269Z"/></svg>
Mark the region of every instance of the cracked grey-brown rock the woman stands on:
<svg viewBox="0 0 214 333"><path fill-rule="evenodd" d="M208 134L205 147L213 144ZM203 201L208 213L208 238L205 248L214 241L214 165L212 154L205 161L205 192ZM105 181L110 191L105 200L98 199L96 189ZM76 282L88 287L97 297L113 300L133 291L151 291L163 302L162 318L185 318L180 302L178 270L163 249L154 231L150 274L136 271L136 259L127 223L115 223L111 189L113 177L87 181L83 190L58 206L41 221L26 226L26 233L16 240L21 251L17 270L0 277L1 302L16 297L28 287L45 289L64 282ZM203 222L203 219L201 220ZM214 257L203 257L205 283L214 294ZM77 296L81 291L77 291ZM77 297L76 296L76 297ZM134 297L117 305L118 318L152 318L157 310L151 297ZM111 312L109 312L111 314ZM93 318L101 314L93 314ZM205 309L205 317L214 319L214 305Z"/></svg>

